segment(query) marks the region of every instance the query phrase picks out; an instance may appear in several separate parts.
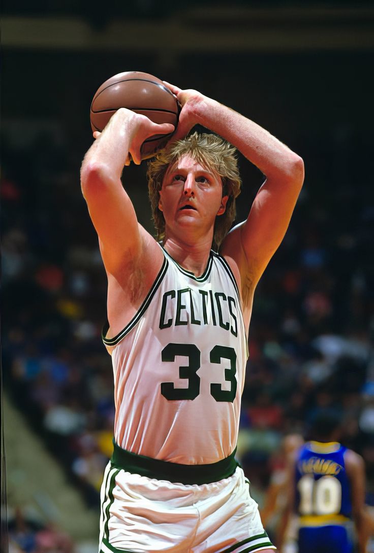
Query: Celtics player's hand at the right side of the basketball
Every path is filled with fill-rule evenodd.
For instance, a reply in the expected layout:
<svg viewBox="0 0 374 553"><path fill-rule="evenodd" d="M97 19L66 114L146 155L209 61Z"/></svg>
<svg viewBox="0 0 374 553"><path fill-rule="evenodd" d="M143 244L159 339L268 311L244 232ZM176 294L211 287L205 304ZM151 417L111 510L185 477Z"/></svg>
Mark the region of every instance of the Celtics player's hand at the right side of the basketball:
<svg viewBox="0 0 374 553"><path fill-rule="evenodd" d="M171 85L170 82L162 82L177 97L177 100L182 107L177 130L169 142L171 143L185 137L186 134L191 131L192 127L199 123L197 108L204 100L204 96L197 90L182 90L175 85Z"/></svg>

